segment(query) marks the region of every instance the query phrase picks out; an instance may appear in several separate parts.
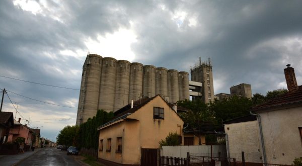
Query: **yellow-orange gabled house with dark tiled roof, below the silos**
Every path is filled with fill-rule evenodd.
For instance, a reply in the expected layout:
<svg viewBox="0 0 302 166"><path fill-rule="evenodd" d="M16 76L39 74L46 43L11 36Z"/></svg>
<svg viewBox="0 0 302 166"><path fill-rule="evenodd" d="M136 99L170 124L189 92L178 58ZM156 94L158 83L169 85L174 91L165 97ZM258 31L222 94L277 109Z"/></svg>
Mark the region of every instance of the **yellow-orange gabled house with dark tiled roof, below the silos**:
<svg viewBox="0 0 302 166"><path fill-rule="evenodd" d="M128 106L129 107L129 106ZM160 96L121 108L116 118L100 127L98 158L119 164L141 164L143 149L157 149L169 132L181 135L183 120Z"/></svg>

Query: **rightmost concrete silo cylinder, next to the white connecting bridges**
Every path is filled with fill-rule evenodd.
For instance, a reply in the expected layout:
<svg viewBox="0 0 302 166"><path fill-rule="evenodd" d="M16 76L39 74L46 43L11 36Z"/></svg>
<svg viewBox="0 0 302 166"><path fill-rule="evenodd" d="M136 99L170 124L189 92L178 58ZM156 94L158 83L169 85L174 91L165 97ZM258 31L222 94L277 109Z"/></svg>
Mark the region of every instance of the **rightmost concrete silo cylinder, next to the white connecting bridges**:
<svg viewBox="0 0 302 166"><path fill-rule="evenodd" d="M180 71L178 73L178 89L179 89L179 100L189 100L189 73L186 71Z"/></svg>

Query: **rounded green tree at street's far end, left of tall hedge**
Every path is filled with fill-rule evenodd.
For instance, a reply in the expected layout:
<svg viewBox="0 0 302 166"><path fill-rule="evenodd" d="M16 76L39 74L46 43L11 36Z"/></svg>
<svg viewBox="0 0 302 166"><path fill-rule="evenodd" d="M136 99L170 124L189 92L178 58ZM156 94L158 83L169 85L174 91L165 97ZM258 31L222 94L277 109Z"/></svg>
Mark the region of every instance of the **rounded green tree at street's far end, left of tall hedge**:
<svg viewBox="0 0 302 166"><path fill-rule="evenodd" d="M57 143L67 146L75 146L75 140L78 132L79 126L65 126L62 130L60 130L57 136Z"/></svg>

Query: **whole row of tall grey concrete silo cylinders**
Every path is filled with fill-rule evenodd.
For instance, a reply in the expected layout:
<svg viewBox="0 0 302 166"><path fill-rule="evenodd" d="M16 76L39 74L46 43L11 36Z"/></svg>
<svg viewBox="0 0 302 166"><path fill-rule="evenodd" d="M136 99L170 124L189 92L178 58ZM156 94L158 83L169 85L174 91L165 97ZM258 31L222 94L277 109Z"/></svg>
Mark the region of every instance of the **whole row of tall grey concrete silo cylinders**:
<svg viewBox="0 0 302 166"><path fill-rule="evenodd" d="M96 54L89 54L84 65L86 75L82 75L82 82L85 81L85 84L81 83L81 90L86 88L84 114L88 117L94 116L88 115L93 112L89 110L116 111L142 96L160 94L171 103L189 99L188 72L102 58ZM80 94L79 108L81 95L83 93Z"/></svg>

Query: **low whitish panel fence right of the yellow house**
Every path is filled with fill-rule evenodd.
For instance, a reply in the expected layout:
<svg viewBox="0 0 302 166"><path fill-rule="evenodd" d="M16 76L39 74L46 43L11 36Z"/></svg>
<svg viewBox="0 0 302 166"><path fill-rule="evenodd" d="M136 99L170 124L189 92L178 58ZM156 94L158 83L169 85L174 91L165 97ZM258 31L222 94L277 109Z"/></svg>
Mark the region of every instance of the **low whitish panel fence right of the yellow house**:
<svg viewBox="0 0 302 166"><path fill-rule="evenodd" d="M227 157L225 145L162 146L161 156L187 157L190 155Z"/></svg>

